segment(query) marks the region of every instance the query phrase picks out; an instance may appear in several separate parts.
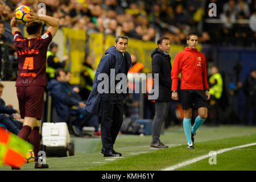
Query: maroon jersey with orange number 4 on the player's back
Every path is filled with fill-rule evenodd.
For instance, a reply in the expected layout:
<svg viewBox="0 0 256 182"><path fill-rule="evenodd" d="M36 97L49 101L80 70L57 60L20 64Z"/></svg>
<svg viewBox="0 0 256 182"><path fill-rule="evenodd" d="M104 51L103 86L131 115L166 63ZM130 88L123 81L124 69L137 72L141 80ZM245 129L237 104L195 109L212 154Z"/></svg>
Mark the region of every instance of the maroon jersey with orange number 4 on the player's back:
<svg viewBox="0 0 256 182"><path fill-rule="evenodd" d="M49 31L36 39L26 39L20 32L14 32L14 45L19 59L16 86L46 86L46 53L51 41Z"/></svg>

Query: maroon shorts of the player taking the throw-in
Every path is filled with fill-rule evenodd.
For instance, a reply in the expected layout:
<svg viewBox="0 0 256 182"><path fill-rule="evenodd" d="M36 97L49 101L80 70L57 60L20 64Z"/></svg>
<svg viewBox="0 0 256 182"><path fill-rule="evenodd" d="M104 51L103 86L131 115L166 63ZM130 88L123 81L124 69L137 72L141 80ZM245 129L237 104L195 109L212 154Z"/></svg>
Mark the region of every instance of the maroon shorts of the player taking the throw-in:
<svg viewBox="0 0 256 182"><path fill-rule="evenodd" d="M44 86L17 86L21 118L32 117L40 120L44 106Z"/></svg>

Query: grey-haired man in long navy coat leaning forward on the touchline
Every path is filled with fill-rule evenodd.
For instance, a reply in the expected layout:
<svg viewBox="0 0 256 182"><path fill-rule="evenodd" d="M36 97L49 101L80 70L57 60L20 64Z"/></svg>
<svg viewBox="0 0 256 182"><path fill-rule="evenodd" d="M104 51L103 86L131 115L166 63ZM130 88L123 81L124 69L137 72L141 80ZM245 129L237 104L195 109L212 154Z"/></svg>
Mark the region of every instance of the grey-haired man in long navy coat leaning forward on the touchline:
<svg viewBox="0 0 256 182"><path fill-rule="evenodd" d="M117 83L116 81L114 82L114 93L112 92L113 81L110 78L117 76L118 73L123 73L127 76L127 72L131 67L131 56L126 52L128 45L127 36L117 36L114 45L106 50L105 56L101 58L98 64L92 92L85 106L85 110L89 113L100 114L101 141L103 146L101 152L104 154L104 157L122 156L122 154L114 151L113 145L123 122L124 94L117 92L120 82ZM111 69L114 69L114 72ZM106 78L108 80L100 80L102 73L108 75L108 78ZM104 88L106 92L104 91L103 93L98 92L101 89L98 87L100 87L102 82L110 82L110 87L106 86L108 88Z"/></svg>

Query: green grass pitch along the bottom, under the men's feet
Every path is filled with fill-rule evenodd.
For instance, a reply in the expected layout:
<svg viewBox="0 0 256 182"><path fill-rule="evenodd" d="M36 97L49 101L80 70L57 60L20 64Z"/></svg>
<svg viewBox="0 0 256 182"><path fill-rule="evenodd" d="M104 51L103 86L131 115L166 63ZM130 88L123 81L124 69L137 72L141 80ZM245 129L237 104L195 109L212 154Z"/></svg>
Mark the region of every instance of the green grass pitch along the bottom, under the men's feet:
<svg viewBox="0 0 256 182"><path fill-rule="evenodd" d="M164 150L151 150L151 136L118 135L115 151L122 158L104 158L100 153L100 138L72 138L75 156L67 158L47 158L48 169L34 169L34 163L24 164L21 170L107 170L139 171L161 170L177 163L209 154L222 148L240 146L256 142L256 127L244 126L202 126L195 137L195 150L187 149L183 128L170 127L160 137L170 146ZM176 170L256 170L256 147L250 146L227 151L217 155L217 164L210 165L209 158L189 164ZM0 166L0 170L10 170Z"/></svg>

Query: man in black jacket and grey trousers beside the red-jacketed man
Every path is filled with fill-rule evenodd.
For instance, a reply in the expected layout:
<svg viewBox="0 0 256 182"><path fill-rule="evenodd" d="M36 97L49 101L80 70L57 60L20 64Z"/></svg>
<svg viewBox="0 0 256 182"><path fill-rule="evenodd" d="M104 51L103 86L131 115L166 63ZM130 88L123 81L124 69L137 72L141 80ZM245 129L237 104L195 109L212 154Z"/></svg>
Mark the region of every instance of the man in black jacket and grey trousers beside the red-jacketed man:
<svg viewBox="0 0 256 182"><path fill-rule="evenodd" d="M168 148L160 142L160 129L166 118L168 102L171 101L171 57L170 39L161 37L158 39L158 48L151 53L152 57L152 74L159 75L159 97L155 102L155 118L152 126L152 141L150 148Z"/></svg>

